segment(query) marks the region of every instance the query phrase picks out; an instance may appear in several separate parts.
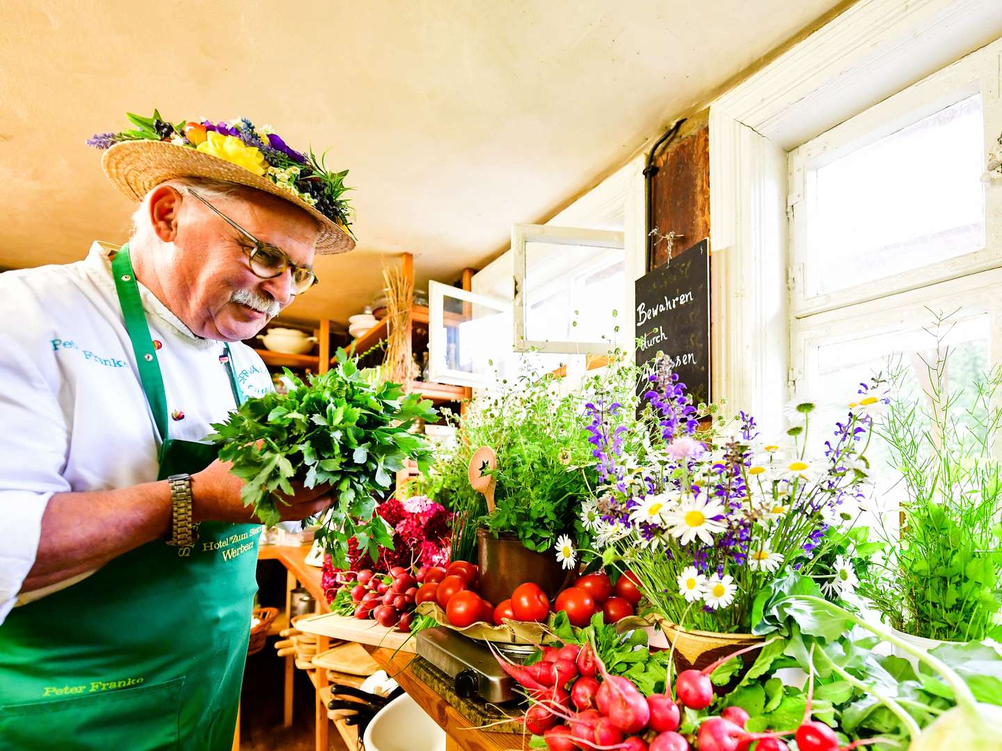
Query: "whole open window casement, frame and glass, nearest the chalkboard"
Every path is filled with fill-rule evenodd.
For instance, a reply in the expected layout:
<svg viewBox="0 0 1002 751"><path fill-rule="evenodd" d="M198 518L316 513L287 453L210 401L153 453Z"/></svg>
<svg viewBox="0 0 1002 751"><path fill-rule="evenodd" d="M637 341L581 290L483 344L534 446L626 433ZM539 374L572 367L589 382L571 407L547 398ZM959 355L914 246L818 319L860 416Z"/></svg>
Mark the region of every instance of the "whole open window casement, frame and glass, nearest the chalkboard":
<svg viewBox="0 0 1002 751"><path fill-rule="evenodd" d="M514 224L511 247L515 351L603 354L628 343L622 232Z"/></svg>

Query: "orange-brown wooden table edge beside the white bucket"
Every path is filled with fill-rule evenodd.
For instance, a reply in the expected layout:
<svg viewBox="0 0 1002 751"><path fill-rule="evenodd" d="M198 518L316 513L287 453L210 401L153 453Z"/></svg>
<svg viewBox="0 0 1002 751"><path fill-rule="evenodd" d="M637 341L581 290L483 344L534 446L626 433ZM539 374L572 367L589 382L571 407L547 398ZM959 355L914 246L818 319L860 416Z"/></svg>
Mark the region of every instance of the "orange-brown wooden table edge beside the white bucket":
<svg viewBox="0 0 1002 751"><path fill-rule="evenodd" d="M447 751L509 751L528 748L528 736L514 733L485 733L470 728L470 721L453 709L408 667L417 655L385 647L366 647L373 659L446 732ZM417 746L415 746L417 748Z"/></svg>

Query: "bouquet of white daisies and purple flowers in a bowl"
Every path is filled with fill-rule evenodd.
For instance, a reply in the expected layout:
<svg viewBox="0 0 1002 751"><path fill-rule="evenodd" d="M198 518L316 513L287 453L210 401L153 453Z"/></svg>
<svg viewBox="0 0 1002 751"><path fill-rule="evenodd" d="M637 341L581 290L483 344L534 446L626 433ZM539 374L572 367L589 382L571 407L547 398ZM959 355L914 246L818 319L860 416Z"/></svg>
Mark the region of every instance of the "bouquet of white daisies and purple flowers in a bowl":
<svg viewBox="0 0 1002 751"><path fill-rule="evenodd" d="M693 406L657 360L630 404L587 406L599 486L581 520L594 547L629 568L672 623L748 631L757 595L791 571L811 574L826 536L864 496L870 413L884 402L860 392L811 451L815 405L792 408L793 426L766 439L744 412L727 419L720 406ZM855 580L824 577L840 596Z"/></svg>

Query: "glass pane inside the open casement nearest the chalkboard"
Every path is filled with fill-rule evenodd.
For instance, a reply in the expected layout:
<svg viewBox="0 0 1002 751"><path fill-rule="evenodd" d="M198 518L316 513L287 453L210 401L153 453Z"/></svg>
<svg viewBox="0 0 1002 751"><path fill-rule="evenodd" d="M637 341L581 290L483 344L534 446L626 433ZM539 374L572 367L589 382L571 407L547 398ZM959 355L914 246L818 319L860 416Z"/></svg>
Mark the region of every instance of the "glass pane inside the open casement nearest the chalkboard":
<svg viewBox="0 0 1002 751"><path fill-rule="evenodd" d="M531 341L609 341L624 309L622 248L526 242L525 336Z"/></svg>

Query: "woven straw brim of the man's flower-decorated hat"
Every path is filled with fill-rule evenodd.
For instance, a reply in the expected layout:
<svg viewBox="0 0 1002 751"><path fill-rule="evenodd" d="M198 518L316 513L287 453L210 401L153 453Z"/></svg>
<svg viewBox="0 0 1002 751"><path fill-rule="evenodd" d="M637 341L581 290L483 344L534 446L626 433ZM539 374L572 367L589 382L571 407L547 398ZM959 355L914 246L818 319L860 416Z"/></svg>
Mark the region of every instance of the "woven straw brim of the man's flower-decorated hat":
<svg viewBox="0 0 1002 751"><path fill-rule="evenodd" d="M161 182L178 177L207 177L246 185L287 200L316 219L320 229L318 253L344 253L355 247L355 239L340 224L267 177L188 146L168 141L122 141L104 152L101 166L111 183L134 201L142 200Z"/></svg>

